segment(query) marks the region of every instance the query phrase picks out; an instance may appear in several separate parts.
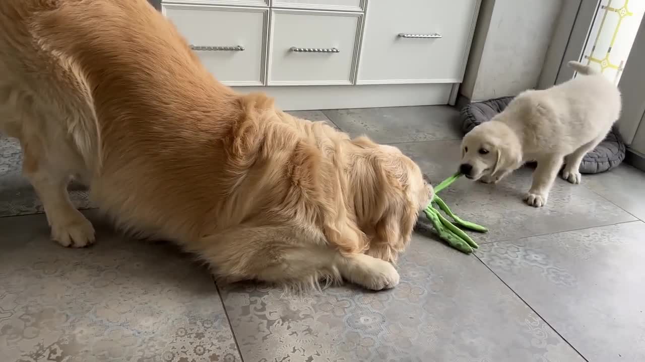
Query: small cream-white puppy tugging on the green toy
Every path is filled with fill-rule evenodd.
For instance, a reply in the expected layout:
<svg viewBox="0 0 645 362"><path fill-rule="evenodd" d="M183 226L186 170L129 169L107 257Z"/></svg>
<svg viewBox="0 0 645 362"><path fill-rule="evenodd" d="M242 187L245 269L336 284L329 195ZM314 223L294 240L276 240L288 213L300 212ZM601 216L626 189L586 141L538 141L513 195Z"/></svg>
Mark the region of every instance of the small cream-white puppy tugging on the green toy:
<svg viewBox="0 0 645 362"><path fill-rule="evenodd" d="M462 142L459 171L483 182L497 182L524 163L537 161L524 200L546 204L557 173L579 184L582 157L606 137L620 116L620 91L602 74L569 62L582 76L547 90L515 97L490 122L475 127Z"/></svg>

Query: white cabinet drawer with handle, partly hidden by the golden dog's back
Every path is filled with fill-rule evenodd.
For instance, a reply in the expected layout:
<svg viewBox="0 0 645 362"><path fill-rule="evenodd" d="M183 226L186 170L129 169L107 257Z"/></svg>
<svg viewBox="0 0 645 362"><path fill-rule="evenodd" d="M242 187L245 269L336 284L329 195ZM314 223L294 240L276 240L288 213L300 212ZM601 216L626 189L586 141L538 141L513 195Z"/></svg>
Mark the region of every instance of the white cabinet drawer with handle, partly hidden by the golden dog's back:
<svg viewBox="0 0 645 362"><path fill-rule="evenodd" d="M204 66L228 86L264 85L268 8L164 4Z"/></svg>

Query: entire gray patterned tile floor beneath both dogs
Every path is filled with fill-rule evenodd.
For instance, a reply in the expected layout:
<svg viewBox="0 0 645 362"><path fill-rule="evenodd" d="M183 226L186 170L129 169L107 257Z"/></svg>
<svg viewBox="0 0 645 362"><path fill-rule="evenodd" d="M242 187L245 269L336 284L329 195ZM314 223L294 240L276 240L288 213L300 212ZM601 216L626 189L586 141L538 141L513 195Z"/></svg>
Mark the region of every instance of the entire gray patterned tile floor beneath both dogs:
<svg viewBox="0 0 645 362"><path fill-rule="evenodd" d="M452 108L294 113L397 144L433 182L459 158ZM0 361L645 361L645 173L558 180L534 209L521 200L530 171L443 192L490 227L475 255L421 220L392 291L290 296L218 289L190 256L114 234L91 210L97 245L58 247L0 138Z"/></svg>

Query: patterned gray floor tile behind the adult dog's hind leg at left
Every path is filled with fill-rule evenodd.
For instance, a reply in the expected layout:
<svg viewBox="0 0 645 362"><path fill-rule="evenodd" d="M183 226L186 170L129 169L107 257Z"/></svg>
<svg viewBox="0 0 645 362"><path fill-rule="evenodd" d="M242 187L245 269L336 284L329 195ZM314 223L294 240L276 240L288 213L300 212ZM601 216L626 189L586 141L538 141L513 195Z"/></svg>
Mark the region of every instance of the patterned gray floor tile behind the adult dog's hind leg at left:
<svg viewBox="0 0 645 362"><path fill-rule="evenodd" d="M0 216L43 212L43 204L21 170L20 144L0 134ZM92 207L87 196L85 189L70 187L70 198L77 208Z"/></svg>

